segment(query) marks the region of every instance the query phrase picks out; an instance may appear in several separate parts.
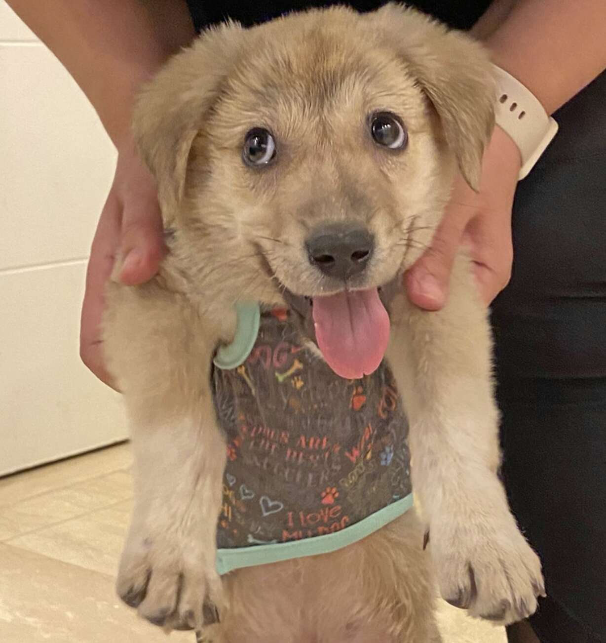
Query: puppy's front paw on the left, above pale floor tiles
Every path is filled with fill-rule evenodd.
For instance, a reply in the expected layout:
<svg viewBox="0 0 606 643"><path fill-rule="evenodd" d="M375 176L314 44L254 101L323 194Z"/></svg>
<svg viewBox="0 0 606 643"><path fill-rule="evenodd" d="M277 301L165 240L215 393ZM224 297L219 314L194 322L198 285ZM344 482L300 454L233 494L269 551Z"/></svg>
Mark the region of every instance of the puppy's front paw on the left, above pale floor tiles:
<svg viewBox="0 0 606 643"><path fill-rule="evenodd" d="M120 598L167 630L202 629L218 621L224 597L215 543L204 547L203 540L131 535L118 572Z"/></svg>

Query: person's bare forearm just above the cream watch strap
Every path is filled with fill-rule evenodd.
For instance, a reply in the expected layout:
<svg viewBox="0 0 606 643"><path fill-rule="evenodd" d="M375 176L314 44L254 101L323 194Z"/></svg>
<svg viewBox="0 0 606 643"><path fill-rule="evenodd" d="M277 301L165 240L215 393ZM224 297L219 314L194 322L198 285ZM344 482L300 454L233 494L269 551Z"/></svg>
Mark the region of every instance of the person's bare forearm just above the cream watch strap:
<svg viewBox="0 0 606 643"><path fill-rule="evenodd" d="M499 67L530 89L549 114L606 69L605 0L497 0L490 28L480 21ZM487 18L490 18L490 10Z"/></svg>

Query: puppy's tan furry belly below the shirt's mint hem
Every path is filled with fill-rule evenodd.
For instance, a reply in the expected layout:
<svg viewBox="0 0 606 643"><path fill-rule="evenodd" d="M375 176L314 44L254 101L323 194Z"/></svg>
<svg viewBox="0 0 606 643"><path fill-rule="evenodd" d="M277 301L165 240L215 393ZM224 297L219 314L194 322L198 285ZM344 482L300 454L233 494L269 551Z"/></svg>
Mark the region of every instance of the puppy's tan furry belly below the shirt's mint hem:
<svg viewBox="0 0 606 643"><path fill-rule="evenodd" d="M334 554L230 574L233 610L222 635L247 643L428 643L436 636L434 586L422 543L411 511Z"/></svg>

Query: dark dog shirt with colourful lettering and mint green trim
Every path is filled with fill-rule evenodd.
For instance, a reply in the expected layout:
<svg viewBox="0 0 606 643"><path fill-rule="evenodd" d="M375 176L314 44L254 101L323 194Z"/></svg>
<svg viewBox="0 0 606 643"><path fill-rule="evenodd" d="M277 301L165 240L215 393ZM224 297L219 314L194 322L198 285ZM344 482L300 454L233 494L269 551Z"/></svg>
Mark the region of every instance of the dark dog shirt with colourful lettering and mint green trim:
<svg viewBox="0 0 606 643"><path fill-rule="evenodd" d="M412 505L407 422L385 361L343 379L304 326L293 309L238 305L234 341L215 358L220 574L346 547Z"/></svg>

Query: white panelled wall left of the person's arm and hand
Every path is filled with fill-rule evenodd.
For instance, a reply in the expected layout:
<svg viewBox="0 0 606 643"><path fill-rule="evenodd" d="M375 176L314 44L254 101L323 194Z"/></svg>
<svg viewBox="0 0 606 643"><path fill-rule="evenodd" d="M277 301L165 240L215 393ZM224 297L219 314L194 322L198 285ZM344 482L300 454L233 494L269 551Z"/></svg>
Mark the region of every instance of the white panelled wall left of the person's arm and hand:
<svg viewBox="0 0 606 643"><path fill-rule="evenodd" d="M126 437L120 396L78 358L115 156L75 82L0 0L0 475Z"/></svg>

